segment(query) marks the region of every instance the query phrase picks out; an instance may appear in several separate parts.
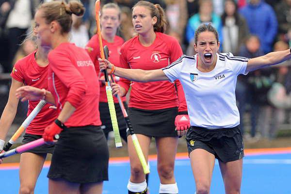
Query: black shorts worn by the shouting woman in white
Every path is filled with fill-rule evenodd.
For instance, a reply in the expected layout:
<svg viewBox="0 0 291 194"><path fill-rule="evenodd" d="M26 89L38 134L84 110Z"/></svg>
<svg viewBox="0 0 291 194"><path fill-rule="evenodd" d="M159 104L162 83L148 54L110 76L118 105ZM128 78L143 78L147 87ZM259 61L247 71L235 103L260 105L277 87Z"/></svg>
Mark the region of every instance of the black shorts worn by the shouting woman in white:
<svg viewBox="0 0 291 194"><path fill-rule="evenodd" d="M223 129L205 129L194 127L186 134L188 153L201 148L210 152L222 162L231 162L243 158L242 133L239 126Z"/></svg>

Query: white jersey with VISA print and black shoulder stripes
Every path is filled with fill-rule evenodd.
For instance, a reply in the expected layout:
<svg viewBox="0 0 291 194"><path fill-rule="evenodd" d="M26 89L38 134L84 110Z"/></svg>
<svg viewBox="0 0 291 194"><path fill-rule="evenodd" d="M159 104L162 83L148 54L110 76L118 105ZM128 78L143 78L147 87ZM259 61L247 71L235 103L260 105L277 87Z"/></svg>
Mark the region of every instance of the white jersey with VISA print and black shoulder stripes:
<svg viewBox="0 0 291 194"><path fill-rule="evenodd" d="M182 55L176 62L163 68L171 81L183 86L191 126L208 129L232 128L240 124L236 106L237 76L247 74L248 58L231 53L217 54L214 69L203 73L197 69L197 57Z"/></svg>

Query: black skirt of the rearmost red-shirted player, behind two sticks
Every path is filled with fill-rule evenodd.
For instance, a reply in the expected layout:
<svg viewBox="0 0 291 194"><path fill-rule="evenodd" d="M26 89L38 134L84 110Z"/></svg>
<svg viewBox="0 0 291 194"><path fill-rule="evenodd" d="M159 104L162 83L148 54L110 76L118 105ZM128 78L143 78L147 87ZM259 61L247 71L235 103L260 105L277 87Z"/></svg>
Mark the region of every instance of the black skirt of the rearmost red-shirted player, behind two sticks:
<svg viewBox="0 0 291 194"><path fill-rule="evenodd" d="M118 122L118 128L119 130L125 130L127 129L127 125L123 116L123 113L121 111L121 108L119 106L119 103L114 103L115 106L115 112L116 112L116 118ZM124 107L127 109L127 104L124 102ZM102 122L102 125L105 126L105 129L103 129L104 132L108 133L109 131L113 130L112 123L111 123L111 117L109 112L109 107L107 102L99 102L99 112L100 112L100 119Z"/></svg>

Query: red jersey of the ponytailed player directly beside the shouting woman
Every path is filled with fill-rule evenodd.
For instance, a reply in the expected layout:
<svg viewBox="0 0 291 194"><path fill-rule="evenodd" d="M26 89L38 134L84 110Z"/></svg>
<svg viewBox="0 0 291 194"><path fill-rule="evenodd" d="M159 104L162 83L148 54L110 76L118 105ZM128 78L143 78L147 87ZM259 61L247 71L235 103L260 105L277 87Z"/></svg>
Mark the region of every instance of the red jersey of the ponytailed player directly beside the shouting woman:
<svg viewBox="0 0 291 194"><path fill-rule="evenodd" d="M125 42L120 50L120 64L123 65L123 68L161 69L175 62L182 54L182 49L175 38L161 32L156 32L156 39L149 47L141 45L138 36ZM179 107L179 111L187 111L182 86L179 81L175 82L177 84L179 100L174 83L169 81L147 83L133 81L131 84L129 107L146 110ZM119 84L126 90L129 89L129 83L120 82Z"/></svg>

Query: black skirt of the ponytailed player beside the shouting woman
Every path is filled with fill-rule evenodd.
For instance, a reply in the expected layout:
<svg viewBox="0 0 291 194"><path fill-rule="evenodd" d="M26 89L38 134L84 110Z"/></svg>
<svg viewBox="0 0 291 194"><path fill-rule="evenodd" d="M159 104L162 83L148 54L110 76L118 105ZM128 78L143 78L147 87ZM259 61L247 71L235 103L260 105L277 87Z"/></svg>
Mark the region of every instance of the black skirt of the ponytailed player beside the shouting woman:
<svg viewBox="0 0 291 194"><path fill-rule="evenodd" d="M177 137L175 118L178 107L161 110L129 108L129 120L136 134L150 137ZM129 135L129 131L128 131Z"/></svg>

